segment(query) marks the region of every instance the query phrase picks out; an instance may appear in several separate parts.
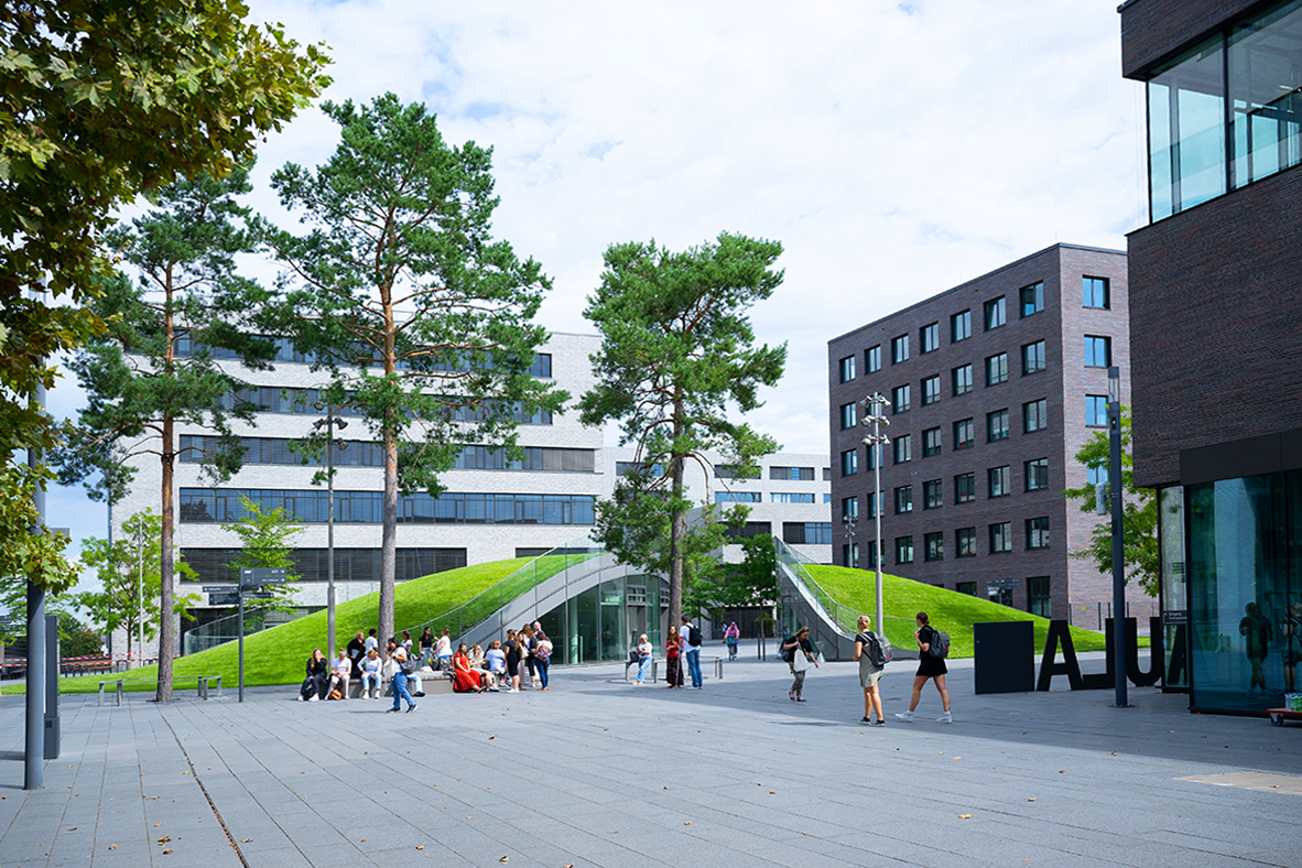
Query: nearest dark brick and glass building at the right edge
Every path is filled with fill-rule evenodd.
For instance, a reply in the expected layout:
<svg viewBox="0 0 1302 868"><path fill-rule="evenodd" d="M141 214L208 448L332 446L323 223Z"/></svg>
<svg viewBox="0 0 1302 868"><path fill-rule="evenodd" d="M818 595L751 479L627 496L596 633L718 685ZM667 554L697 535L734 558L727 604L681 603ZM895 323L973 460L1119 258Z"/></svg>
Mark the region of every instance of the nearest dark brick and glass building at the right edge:
<svg viewBox="0 0 1302 868"><path fill-rule="evenodd" d="M1159 489L1168 690L1260 713L1302 658L1302 3L1130 0L1134 472Z"/></svg>

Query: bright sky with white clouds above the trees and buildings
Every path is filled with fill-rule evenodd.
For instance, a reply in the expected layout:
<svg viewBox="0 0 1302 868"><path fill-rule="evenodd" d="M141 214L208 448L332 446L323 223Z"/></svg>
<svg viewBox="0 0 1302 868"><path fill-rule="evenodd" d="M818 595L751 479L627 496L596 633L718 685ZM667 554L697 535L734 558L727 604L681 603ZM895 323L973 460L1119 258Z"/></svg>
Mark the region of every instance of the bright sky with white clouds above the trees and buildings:
<svg viewBox="0 0 1302 868"><path fill-rule="evenodd" d="M1143 221L1117 0L249 5L328 46L324 99L392 91L493 148L495 236L553 278L551 331L594 333L611 243L780 241L785 281L753 320L786 373L749 420L792 452L828 449L831 338L1060 241L1124 250ZM301 113L260 147L251 204L286 223L271 172L336 143ZM74 539L105 532L79 489L48 509Z"/></svg>

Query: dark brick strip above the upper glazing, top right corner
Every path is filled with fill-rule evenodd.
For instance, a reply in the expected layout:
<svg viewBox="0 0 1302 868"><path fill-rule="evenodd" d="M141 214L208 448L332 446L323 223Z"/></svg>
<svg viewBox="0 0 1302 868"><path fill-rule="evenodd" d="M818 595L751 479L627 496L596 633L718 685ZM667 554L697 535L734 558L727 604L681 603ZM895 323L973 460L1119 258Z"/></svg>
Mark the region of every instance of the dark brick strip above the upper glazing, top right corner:
<svg viewBox="0 0 1302 868"><path fill-rule="evenodd" d="M1121 74L1138 78L1152 64L1210 36L1226 21L1272 0L1133 0L1121 9Z"/></svg>

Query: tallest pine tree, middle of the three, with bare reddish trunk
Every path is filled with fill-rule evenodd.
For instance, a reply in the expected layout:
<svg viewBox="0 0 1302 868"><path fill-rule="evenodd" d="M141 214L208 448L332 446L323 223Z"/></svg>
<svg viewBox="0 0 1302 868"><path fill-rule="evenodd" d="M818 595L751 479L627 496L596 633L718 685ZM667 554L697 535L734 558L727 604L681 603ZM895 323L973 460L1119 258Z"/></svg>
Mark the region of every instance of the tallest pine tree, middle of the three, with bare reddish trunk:
<svg viewBox="0 0 1302 868"><path fill-rule="evenodd" d="M285 268L262 324L289 336L328 375L326 402L383 444L376 626L387 636L398 493L440 493L469 444L514 457L517 426L566 396L533 373L547 340L533 318L551 281L491 237L492 151L449 146L424 105L393 94L322 111L340 126L335 154L315 172L272 176L303 232L260 224Z"/></svg>

